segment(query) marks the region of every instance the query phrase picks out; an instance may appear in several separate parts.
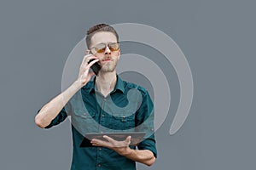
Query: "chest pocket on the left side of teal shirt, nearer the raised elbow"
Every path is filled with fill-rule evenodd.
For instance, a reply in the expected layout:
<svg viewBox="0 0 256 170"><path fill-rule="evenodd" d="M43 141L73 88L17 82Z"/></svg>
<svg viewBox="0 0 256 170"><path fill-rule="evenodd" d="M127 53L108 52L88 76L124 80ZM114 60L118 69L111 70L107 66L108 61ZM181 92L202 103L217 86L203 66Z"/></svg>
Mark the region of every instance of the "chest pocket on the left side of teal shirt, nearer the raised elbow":
<svg viewBox="0 0 256 170"><path fill-rule="evenodd" d="M84 110L74 110L71 116L73 127L75 127L79 133L84 135L85 133L95 133L98 129L98 123L96 122L96 112L85 112Z"/></svg>

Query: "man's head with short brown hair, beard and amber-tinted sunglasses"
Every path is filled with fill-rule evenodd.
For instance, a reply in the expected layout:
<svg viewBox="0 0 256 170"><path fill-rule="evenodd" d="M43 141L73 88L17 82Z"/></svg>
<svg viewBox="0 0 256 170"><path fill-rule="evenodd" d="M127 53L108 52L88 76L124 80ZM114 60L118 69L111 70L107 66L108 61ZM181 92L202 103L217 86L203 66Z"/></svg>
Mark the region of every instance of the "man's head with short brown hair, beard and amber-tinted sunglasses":
<svg viewBox="0 0 256 170"><path fill-rule="evenodd" d="M102 72L115 71L120 56L119 36L112 26L100 24L87 31L87 54L94 54L99 59Z"/></svg>

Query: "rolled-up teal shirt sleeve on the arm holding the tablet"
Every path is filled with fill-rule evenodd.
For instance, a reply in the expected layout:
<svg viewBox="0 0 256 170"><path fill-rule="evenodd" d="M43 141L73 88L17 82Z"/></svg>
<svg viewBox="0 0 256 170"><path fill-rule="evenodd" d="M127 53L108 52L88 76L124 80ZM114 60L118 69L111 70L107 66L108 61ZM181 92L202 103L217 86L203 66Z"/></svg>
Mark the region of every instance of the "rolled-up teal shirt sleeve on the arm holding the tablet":
<svg viewBox="0 0 256 170"><path fill-rule="evenodd" d="M147 91L143 92L143 101L137 110L137 130L145 132L145 139L137 145L139 150L150 150L157 157L154 138L154 104Z"/></svg>

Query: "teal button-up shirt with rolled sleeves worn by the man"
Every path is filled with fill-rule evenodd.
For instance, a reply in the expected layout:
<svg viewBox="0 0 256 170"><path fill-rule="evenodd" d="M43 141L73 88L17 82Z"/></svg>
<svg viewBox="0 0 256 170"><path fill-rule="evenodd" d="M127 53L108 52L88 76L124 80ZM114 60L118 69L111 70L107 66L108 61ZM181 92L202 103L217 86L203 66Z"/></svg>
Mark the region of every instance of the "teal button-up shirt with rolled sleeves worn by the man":
<svg viewBox="0 0 256 170"><path fill-rule="evenodd" d="M97 91L96 77L76 93L45 128L71 116L73 132L72 170L133 170L135 161L105 147L80 147L85 133L146 132L145 139L131 149L151 150L157 156L154 139L154 105L148 92L117 76L113 91L105 98Z"/></svg>

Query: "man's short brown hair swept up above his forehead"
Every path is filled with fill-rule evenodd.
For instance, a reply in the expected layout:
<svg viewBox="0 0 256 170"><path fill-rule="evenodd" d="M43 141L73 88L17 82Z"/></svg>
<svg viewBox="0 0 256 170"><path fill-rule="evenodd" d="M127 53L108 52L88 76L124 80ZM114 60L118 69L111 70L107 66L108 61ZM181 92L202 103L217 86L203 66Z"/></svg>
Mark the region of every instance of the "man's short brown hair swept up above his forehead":
<svg viewBox="0 0 256 170"><path fill-rule="evenodd" d="M86 38L85 38L86 44L87 44L87 48L90 48L90 40L91 40L91 37L93 37L93 35L96 34L96 32L100 32L100 31L112 32L113 35L116 37L117 41L119 41L119 35L118 35L118 33L113 29L112 26L109 26L108 24L98 24L98 25L96 25L96 26L90 27L90 29L87 31L87 36L86 36Z"/></svg>

